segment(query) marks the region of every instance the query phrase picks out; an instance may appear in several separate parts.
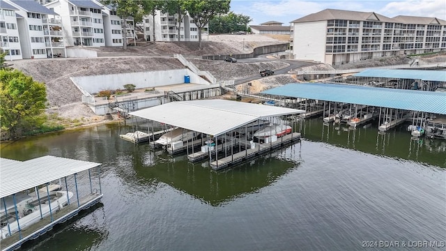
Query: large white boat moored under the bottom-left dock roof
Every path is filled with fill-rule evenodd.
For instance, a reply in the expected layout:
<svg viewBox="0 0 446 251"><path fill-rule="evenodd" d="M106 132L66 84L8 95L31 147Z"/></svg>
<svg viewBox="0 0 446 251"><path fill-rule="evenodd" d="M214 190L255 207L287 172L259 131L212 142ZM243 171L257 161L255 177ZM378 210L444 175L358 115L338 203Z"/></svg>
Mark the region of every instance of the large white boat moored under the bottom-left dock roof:
<svg viewBox="0 0 446 251"><path fill-rule="evenodd" d="M36 192L31 192L28 195L20 193L15 195L15 203L12 195L1 198L1 238L7 238L10 234L14 234L18 231L19 226L21 230L26 229L26 227L38 222L41 217L49 217L50 205L53 213L59 211L63 206L66 206L68 204L68 198L71 198L73 193L57 190L60 188L60 185L51 185L51 188L48 189L50 191L49 195L46 187L38 190L38 196ZM17 208L17 211L15 211L15 208Z"/></svg>

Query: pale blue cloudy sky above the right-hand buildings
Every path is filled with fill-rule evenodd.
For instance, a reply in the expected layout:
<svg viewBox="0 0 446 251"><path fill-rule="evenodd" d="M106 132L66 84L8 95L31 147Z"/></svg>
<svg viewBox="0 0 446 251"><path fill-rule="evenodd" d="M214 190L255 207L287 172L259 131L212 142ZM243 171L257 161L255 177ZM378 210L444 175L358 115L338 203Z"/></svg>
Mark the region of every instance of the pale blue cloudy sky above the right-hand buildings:
<svg viewBox="0 0 446 251"><path fill-rule="evenodd" d="M374 12L386 17L412 15L446 20L445 0L231 0L231 11L251 17L252 25L277 21L288 26L293 20L326 8Z"/></svg>

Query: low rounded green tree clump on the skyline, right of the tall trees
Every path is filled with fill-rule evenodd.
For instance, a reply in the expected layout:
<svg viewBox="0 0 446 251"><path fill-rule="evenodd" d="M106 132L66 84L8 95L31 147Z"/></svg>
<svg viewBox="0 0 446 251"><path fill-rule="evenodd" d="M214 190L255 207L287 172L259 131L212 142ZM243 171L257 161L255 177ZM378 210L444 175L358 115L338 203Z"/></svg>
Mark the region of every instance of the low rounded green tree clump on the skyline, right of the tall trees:
<svg viewBox="0 0 446 251"><path fill-rule="evenodd" d="M252 18L236 14L232 11L224 15L216 15L209 21L209 32L211 33L232 33L236 31L247 31L247 24Z"/></svg>

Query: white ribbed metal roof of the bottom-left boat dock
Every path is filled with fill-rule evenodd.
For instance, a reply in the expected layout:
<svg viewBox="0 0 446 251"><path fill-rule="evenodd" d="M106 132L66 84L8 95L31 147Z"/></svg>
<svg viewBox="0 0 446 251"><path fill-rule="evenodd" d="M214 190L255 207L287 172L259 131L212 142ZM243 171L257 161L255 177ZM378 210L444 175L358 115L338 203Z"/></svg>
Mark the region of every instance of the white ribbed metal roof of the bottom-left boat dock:
<svg viewBox="0 0 446 251"><path fill-rule="evenodd" d="M0 158L0 163L0 198L101 165L51 155L23 162Z"/></svg>

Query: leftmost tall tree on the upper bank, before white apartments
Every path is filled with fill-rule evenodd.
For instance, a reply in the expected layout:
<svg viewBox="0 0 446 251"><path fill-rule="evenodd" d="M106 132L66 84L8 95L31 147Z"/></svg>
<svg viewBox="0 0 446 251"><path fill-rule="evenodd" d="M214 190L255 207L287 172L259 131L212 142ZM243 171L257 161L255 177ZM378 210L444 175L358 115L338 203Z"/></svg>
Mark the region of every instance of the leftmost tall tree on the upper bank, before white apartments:
<svg viewBox="0 0 446 251"><path fill-rule="evenodd" d="M127 49L127 17L133 17L134 23L141 22L144 15L140 1L137 0L100 0L100 3L112 6L116 10L116 15L121 17L121 27L123 28L123 49ZM134 38L133 38L134 39Z"/></svg>

